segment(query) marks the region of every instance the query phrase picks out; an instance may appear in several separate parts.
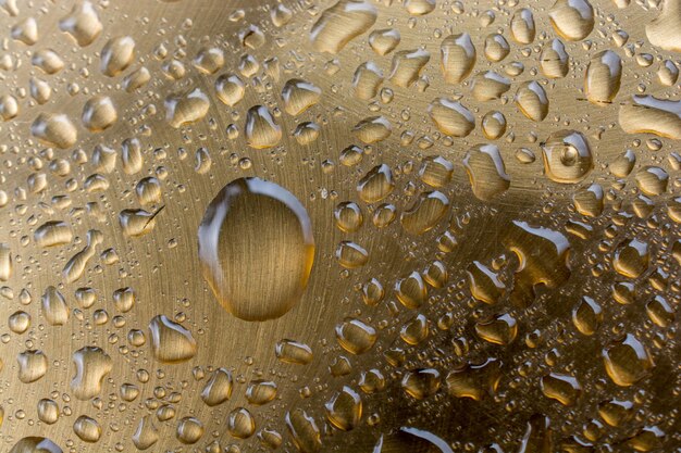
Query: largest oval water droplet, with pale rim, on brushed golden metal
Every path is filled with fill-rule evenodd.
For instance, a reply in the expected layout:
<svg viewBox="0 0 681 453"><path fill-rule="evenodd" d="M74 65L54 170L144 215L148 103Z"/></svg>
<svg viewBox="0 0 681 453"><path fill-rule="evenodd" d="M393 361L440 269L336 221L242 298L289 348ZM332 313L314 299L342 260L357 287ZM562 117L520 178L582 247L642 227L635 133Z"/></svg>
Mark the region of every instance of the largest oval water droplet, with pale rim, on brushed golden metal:
<svg viewBox="0 0 681 453"><path fill-rule="evenodd" d="M230 183L208 205L198 236L203 277L233 315L277 318L301 298L314 259L312 225L283 187Z"/></svg>

